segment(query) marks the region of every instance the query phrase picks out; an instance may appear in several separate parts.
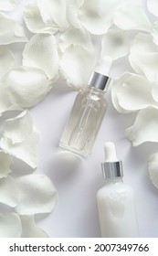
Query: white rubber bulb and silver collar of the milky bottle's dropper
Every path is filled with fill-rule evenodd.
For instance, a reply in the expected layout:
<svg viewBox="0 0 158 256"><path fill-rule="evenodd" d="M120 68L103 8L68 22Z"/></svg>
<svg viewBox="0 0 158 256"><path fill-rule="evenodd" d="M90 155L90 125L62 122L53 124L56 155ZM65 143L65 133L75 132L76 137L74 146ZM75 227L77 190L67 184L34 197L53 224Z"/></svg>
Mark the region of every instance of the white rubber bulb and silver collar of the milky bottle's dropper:
<svg viewBox="0 0 158 256"><path fill-rule="evenodd" d="M115 145L108 142L104 146L105 162L101 164L103 179L121 178L122 163L116 157Z"/></svg>

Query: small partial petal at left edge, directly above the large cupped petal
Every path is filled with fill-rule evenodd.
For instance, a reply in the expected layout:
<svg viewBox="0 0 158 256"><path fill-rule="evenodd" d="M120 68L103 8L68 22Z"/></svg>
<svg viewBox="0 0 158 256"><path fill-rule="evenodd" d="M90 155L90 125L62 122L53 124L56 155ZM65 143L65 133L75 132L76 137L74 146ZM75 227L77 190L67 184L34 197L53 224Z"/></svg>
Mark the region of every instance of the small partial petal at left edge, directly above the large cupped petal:
<svg viewBox="0 0 158 256"><path fill-rule="evenodd" d="M0 46L0 78L2 78L8 69L11 69L15 63L13 53L5 46Z"/></svg>

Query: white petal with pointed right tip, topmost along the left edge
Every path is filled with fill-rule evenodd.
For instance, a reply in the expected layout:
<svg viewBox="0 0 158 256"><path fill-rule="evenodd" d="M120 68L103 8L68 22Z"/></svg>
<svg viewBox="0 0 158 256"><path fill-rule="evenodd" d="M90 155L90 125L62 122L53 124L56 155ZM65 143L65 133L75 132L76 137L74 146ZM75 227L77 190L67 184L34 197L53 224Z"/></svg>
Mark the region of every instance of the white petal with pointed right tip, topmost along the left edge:
<svg viewBox="0 0 158 256"><path fill-rule="evenodd" d="M26 42L24 28L10 16L0 13L0 45Z"/></svg>

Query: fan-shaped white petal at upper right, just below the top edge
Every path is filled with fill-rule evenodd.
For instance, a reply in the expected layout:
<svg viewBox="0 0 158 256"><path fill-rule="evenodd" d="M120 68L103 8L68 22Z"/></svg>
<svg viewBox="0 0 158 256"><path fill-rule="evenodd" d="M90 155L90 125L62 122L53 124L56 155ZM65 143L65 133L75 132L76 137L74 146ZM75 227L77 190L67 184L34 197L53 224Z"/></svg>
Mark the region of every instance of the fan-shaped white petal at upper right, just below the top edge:
<svg viewBox="0 0 158 256"><path fill-rule="evenodd" d="M123 3L114 12L114 23L121 29L139 29L152 32L152 24L146 16L143 7L138 4Z"/></svg>

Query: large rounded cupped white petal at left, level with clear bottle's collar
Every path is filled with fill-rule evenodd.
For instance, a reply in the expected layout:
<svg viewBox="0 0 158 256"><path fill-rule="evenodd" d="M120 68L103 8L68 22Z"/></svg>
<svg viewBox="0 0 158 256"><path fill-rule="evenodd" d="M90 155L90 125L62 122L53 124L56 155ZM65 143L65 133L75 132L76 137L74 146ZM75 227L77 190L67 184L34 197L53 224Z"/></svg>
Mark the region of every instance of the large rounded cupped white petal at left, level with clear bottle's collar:
<svg viewBox="0 0 158 256"><path fill-rule="evenodd" d="M17 67L5 74L5 91L15 107L29 108L42 101L51 90L51 80L41 69Z"/></svg>

